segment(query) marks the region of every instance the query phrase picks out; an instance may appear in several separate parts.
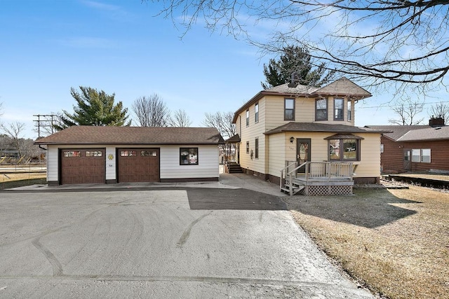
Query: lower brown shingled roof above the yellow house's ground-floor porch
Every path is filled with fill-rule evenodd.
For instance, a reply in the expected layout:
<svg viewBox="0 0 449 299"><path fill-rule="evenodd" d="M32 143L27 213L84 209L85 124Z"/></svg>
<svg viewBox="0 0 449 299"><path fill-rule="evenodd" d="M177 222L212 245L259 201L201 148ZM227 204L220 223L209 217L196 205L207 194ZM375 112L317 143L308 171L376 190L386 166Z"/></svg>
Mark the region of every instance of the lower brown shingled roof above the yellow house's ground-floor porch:
<svg viewBox="0 0 449 299"><path fill-rule="evenodd" d="M277 134L282 132L335 132L340 134L351 133L384 133L389 131L375 130L369 127L354 127L352 125L335 125L327 123L295 123L290 122L286 125L275 127L273 130L265 132L265 135Z"/></svg>

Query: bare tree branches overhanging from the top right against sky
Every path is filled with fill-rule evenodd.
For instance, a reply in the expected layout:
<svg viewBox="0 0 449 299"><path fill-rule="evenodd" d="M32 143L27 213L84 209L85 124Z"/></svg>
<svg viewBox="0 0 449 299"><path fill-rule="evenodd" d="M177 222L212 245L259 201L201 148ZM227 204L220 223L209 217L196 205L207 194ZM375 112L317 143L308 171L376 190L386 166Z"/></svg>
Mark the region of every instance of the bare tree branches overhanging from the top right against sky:
<svg viewBox="0 0 449 299"><path fill-rule="evenodd" d="M375 85L442 82L449 71L449 0L157 2L185 32L201 22L262 50L305 46L328 70ZM254 25L269 31L260 38L250 32Z"/></svg>

